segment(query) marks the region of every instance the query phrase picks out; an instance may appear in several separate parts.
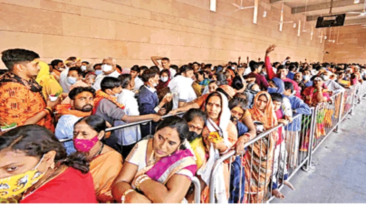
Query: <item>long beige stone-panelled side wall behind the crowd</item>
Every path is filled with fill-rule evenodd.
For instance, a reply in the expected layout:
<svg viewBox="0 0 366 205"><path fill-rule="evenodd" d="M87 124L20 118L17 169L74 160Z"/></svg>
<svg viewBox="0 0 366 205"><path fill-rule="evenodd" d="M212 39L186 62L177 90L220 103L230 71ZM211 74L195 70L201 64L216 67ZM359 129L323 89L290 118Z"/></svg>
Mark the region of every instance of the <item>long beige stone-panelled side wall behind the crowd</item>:
<svg viewBox="0 0 366 205"><path fill-rule="evenodd" d="M253 9L233 13L233 2L240 4L217 0L217 12L210 12L209 0L0 0L0 50L31 49L46 62L73 55L101 62L111 56L130 67L151 66L152 55L178 65L219 64L239 55L263 59L266 47L276 43L272 61L287 55L321 61L324 44L310 41L310 33L298 37L292 24L278 31L281 4L261 0L258 24L253 24ZM244 5L253 2L244 0ZM303 19L288 7L284 14L284 21Z"/></svg>

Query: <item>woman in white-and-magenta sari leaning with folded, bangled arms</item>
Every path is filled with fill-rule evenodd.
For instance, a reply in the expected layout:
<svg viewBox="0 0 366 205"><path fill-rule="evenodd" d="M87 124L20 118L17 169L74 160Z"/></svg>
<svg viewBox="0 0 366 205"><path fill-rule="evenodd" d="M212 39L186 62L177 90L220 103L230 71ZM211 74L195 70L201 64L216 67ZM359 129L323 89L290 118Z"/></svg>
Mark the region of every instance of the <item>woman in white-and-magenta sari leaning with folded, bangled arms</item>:
<svg viewBox="0 0 366 205"><path fill-rule="evenodd" d="M197 165L187 142L188 124L177 116L165 118L153 139L132 149L112 186L122 203L179 203L184 200Z"/></svg>

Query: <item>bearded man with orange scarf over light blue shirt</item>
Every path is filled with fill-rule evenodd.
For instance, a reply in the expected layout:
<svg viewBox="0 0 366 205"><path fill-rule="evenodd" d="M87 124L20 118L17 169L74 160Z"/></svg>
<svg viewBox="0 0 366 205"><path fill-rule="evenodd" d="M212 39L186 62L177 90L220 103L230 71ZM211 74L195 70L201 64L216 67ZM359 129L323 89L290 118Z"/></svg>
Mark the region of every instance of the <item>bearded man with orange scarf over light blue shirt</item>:
<svg viewBox="0 0 366 205"><path fill-rule="evenodd" d="M95 90L90 87L76 87L72 89L68 96L70 104L57 105L57 115L61 115L57 125L55 135L57 139L67 140L64 142L67 154L75 152L74 143L74 124L82 117L91 115L94 107Z"/></svg>

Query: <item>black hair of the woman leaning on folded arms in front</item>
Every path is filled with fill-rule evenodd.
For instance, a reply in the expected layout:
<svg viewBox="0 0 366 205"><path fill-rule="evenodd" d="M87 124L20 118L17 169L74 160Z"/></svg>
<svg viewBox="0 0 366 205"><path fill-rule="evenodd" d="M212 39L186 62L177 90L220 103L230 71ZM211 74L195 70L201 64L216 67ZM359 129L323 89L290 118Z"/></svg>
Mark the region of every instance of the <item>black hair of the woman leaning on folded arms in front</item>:
<svg viewBox="0 0 366 205"><path fill-rule="evenodd" d="M176 131L178 132L179 139L180 139L180 142L181 143L183 143L184 140L186 140L187 137L188 137L189 128L188 128L187 121L184 120L181 117L178 117L178 116L169 116L169 117L165 118L163 121L161 121L157 125L156 132L159 131L160 129L163 129L164 127L170 127L172 129L176 129ZM186 149L186 146L184 146L182 144L179 148L181 150L185 150Z"/></svg>

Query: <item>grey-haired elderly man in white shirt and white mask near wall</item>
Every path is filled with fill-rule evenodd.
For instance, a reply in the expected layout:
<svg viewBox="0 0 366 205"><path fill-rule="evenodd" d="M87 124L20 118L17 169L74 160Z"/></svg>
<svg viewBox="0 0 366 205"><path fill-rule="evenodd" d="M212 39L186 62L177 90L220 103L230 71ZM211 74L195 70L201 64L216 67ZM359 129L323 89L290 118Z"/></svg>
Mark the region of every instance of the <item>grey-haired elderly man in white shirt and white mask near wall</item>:
<svg viewBox="0 0 366 205"><path fill-rule="evenodd" d="M117 78L120 74L118 73L116 69L116 60L114 58L108 57L104 58L102 61L102 74L99 74L97 78L95 79L93 88L95 90L100 90L100 83L102 82L104 77L115 77Z"/></svg>

